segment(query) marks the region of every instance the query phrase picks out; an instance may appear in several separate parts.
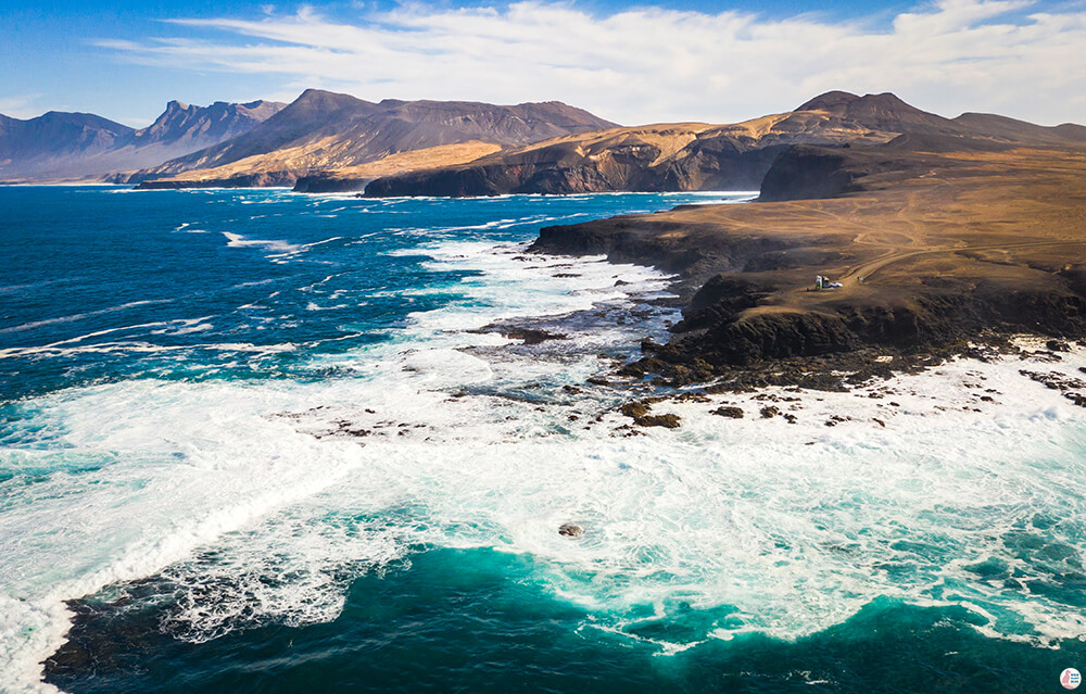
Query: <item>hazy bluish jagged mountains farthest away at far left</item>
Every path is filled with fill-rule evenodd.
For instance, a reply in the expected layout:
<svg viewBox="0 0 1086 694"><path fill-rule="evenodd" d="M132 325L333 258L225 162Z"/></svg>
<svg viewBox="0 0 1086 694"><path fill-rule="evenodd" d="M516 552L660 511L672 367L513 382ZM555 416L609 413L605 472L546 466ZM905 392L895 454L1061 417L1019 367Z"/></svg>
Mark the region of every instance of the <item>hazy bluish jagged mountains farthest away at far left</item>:
<svg viewBox="0 0 1086 694"><path fill-rule="evenodd" d="M88 113L50 111L27 121L0 115L0 178L74 179L152 166L242 135L283 105L171 101L139 130Z"/></svg>

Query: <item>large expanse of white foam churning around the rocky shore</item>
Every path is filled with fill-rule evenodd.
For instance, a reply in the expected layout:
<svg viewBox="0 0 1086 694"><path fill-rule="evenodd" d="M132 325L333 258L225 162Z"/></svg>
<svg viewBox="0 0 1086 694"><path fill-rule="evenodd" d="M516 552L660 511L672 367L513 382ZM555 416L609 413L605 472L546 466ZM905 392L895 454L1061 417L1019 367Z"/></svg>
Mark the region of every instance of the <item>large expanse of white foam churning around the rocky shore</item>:
<svg viewBox="0 0 1086 694"><path fill-rule="evenodd" d="M331 619L353 577L419 544L531 554L556 597L617 633L633 634L629 615L645 605L657 619L679 598L733 606L728 623L661 641L662 653L754 631L794 639L881 595L967 605L986 620L982 633L1035 644L1086 628L1073 606L1030 592L1045 576L1008 544L1028 532L1084 558L1063 525L1030 522L1086 517L1075 493L1086 411L1023 377L1022 364L959 361L850 393L768 391L800 402L660 403L654 412L680 415L681 429L624 438L629 420L607 414L614 392L584 380L607 366L598 349L629 344L644 324L569 325L543 354L464 330L626 306L665 292L662 276L525 258L519 245L404 253L420 252L435 269L479 275L442 288L459 299L412 315L391 340L312 361L350 376L129 381L24 403L23 433L0 456L17 474L47 472L0 488L0 682L31 686L63 639L62 601L114 581L164 571L180 586L164 624L203 641ZM1072 377L1086 365L1081 351L1038 359L1026 367ZM563 383L585 390L554 394ZM997 393L982 401L967 383ZM876 388L887 392L868 398ZM724 403L746 418L710 414ZM797 424L759 418L770 404ZM826 427L833 416L843 421ZM585 535L560 537L568 521ZM198 553L209 546L213 561ZM970 570L988 557L1020 569L1024 588ZM298 580L274 580L288 567Z"/></svg>

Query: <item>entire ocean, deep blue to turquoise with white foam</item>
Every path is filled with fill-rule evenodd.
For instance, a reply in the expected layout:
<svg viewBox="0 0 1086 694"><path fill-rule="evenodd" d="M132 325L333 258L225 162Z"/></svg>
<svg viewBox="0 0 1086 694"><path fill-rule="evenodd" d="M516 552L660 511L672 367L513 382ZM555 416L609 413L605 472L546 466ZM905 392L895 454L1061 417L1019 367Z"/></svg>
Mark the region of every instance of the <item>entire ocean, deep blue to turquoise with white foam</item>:
<svg viewBox="0 0 1086 694"><path fill-rule="evenodd" d="M0 691L1061 691L1082 348L631 428L668 278L527 252L748 198L0 187Z"/></svg>

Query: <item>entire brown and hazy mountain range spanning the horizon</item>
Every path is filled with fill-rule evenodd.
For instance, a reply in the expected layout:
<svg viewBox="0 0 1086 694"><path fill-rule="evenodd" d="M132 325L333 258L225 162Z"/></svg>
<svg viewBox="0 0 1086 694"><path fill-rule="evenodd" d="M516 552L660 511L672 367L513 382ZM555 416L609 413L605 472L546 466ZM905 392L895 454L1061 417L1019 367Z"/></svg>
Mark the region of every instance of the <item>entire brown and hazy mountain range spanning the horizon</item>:
<svg viewBox="0 0 1086 694"><path fill-rule="evenodd" d="M290 104L172 101L140 130L83 113L0 116L0 179L90 176L141 188L294 186L371 197L756 190L797 147L874 147L874 161L891 151L1082 142L1083 126L980 113L946 118L892 93L830 91L736 124L621 127L557 101L370 102L308 89Z"/></svg>

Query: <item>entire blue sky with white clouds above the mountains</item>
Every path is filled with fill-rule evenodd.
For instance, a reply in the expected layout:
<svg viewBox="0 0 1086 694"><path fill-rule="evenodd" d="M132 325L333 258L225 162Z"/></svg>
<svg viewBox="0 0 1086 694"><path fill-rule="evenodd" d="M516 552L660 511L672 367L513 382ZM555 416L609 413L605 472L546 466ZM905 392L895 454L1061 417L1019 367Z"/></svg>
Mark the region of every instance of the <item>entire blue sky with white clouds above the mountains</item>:
<svg viewBox="0 0 1086 694"><path fill-rule="evenodd" d="M140 127L177 99L557 100L733 123L832 89L1086 123L1086 0L0 2L0 113Z"/></svg>

